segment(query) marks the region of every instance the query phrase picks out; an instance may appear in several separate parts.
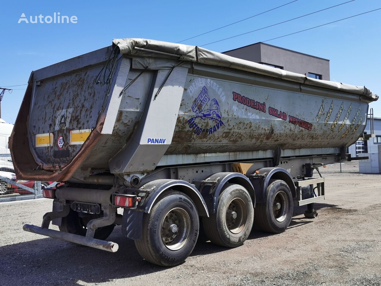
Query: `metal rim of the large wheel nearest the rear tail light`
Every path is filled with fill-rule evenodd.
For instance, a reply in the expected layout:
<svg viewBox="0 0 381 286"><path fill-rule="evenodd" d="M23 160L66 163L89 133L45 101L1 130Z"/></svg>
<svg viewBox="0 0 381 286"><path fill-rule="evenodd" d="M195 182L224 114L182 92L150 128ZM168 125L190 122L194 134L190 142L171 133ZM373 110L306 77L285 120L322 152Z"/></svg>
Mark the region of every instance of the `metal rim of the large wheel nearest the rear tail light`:
<svg viewBox="0 0 381 286"><path fill-rule="evenodd" d="M191 218L186 210L176 207L164 217L161 236L166 248L176 251L181 249L191 234Z"/></svg>

